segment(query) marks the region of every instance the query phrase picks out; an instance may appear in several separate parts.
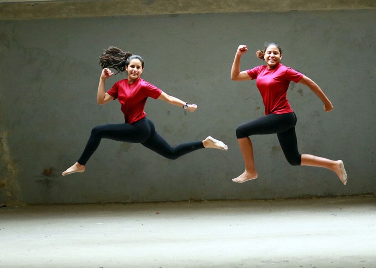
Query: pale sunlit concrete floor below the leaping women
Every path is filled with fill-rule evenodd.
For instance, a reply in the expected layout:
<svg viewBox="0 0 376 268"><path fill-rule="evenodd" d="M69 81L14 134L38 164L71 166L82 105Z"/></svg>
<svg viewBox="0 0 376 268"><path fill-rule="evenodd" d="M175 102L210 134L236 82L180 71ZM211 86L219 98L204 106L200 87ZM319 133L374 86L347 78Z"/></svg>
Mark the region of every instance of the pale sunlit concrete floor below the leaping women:
<svg viewBox="0 0 376 268"><path fill-rule="evenodd" d="M376 267L376 197L0 209L0 267Z"/></svg>

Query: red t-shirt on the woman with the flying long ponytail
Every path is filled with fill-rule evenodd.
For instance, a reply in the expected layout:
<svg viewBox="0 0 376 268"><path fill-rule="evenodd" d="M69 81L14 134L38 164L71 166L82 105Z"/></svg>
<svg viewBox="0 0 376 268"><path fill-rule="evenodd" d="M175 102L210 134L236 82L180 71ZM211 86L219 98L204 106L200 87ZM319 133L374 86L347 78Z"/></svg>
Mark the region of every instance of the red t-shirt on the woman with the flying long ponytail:
<svg viewBox="0 0 376 268"><path fill-rule="evenodd" d="M107 93L114 97L114 100L119 99L125 122L132 124L146 116L144 108L147 97L158 99L162 90L139 78L130 85L128 79L120 80Z"/></svg>

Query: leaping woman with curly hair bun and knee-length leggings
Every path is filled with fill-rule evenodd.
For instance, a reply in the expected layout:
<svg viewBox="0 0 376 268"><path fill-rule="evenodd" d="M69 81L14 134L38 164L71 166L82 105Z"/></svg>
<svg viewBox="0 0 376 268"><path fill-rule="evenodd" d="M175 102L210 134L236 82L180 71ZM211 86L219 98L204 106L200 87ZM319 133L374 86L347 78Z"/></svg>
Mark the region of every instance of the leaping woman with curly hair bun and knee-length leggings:
<svg viewBox="0 0 376 268"><path fill-rule="evenodd" d="M315 155L299 154L295 133L297 119L286 98L290 81L308 86L323 101L326 112L333 109L332 103L315 82L302 73L280 63L282 49L276 43L265 43L265 49L256 52L258 58L265 60L266 65L240 72L240 57L247 50L247 46L240 45L238 47L231 68L231 79L234 81L256 79L256 85L265 105L266 116L238 126L236 135L246 168L243 174L233 178L232 181L244 183L258 177L249 136L276 133L285 157L291 165L317 166L330 169L346 185L347 174L342 160L334 161Z"/></svg>

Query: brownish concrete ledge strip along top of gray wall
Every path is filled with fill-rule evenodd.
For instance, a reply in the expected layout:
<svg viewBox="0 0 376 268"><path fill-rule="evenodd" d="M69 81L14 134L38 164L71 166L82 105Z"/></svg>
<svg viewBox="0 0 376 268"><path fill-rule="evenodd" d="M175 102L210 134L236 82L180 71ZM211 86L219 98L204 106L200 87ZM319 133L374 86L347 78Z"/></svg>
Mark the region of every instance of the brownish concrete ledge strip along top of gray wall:
<svg viewBox="0 0 376 268"><path fill-rule="evenodd" d="M376 9L374 0L0 0L0 20Z"/></svg>

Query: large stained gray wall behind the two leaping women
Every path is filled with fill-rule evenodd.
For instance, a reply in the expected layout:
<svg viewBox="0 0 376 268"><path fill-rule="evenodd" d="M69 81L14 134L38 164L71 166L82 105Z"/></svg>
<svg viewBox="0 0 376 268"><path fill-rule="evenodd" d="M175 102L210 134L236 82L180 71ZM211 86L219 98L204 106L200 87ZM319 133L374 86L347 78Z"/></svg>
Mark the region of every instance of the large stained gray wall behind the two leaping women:
<svg viewBox="0 0 376 268"><path fill-rule="evenodd" d="M0 203L106 203L268 199L374 193L376 10L151 15L0 22ZM276 135L255 136L259 178L244 170L236 127L263 116L255 82L230 80L263 64L254 52L277 41L283 63L312 78L334 110L301 84L288 99L301 153L343 159L346 186L328 170L290 166ZM146 113L171 144L212 135L227 152L202 149L167 160L139 144L102 140L83 174L60 174L80 156L91 128L123 122L117 101L100 106L98 56L120 46L146 59L143 78L199 108L149 99ZM106 82L106 88L118 79Z"/></svg>

